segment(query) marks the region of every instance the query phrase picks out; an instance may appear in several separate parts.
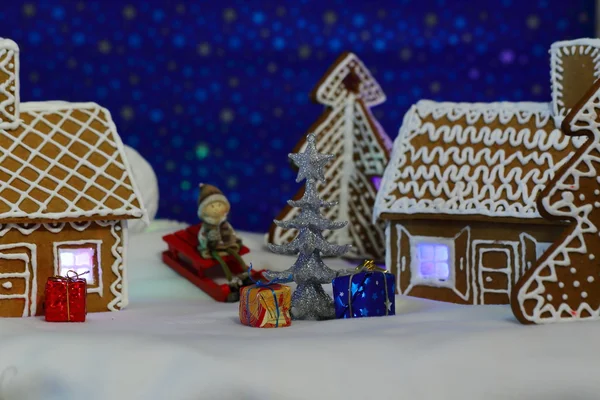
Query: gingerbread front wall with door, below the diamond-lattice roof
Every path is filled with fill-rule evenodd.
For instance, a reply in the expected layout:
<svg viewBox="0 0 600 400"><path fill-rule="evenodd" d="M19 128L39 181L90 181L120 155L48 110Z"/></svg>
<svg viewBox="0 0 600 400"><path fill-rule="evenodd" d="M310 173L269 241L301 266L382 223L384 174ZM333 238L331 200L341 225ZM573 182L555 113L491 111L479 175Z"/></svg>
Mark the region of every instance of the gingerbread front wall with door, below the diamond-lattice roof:
<svg viewBox="0 0 600 400"><path fill-rule="evenodd" d="M47 279L55 275L55 243L60 242L99 245L100 268L96 284L88 287L88 312L121 308L120 221L9 224L0 225L0 316L43 315L44 289Z"/></svg>

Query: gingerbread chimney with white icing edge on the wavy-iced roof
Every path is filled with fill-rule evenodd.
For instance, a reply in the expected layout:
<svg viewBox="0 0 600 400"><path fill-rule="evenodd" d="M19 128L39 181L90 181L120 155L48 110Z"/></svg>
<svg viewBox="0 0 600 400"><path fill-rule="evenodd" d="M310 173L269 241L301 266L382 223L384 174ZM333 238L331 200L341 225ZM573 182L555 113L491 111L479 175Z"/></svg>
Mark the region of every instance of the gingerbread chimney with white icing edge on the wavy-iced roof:
<svg viewBox="0 0 600 400"><path fill-rule="evenodd" d="M550 68L552 110L564 117L600 77L600 39L554 43Z"/></svg>

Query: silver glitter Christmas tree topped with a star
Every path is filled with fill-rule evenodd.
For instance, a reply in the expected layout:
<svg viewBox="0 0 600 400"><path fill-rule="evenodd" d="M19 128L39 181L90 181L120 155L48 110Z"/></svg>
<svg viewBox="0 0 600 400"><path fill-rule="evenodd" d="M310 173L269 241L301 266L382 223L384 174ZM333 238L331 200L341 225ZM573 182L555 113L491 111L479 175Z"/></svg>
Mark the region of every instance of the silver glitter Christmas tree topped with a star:
<svg viewBox="0 0 600 400"><path fill-rule="evenodd" d="M325 265L322 257L341 256L350 249L350 246L327 242L323 238L323 231L341 229L347 222L330 221L321 215L321 208L336 205L335 202L321 200L317 191L319 181L325 180L325 165L334 156L317 152L313 134L308 135L306 143L306 150L303 153L289 155L299 168L296 182L306 179L302 198L288 201L290 206L299 208L300 213L289 221L275 221L275 224L283 229L297 229L298 235L287 244L269 244L272 252L298 254L298 259L288 270L267 271L265 277L283 283L296 282L298 285L292 295L292 318L332 319L335 317L333 299L325 293L322 285L330 284L337 273Z"/></svg>

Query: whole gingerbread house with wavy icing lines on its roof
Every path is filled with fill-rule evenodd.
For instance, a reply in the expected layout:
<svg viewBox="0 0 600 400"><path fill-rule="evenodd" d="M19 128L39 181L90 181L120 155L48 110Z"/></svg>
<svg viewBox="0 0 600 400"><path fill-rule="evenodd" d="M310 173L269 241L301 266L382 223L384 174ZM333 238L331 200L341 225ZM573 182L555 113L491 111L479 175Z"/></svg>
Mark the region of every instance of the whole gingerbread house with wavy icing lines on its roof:
<svg viewBox="0 0 600 400"><path fill-rule="evenodd" d="M560 123L600 75L600 40L551 47L551 103L437 103L408 111L377 195L402 294L505 304L565 229L536 198L582 146Z"/></svg>

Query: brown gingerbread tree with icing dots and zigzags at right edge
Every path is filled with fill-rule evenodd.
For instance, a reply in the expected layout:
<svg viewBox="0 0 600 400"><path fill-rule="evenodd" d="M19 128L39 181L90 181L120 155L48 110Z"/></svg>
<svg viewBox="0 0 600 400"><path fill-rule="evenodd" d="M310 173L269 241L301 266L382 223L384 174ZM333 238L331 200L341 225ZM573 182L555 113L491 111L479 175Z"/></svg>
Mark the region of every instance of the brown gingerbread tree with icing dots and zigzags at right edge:
<svg viewBox="0 0 600 400"><path fill-rule="evenodd" d="M513 289L511 307L524 324L600 317L600 81L562 130L580 148L540 194L538 209L569 225Z"/></svg>

